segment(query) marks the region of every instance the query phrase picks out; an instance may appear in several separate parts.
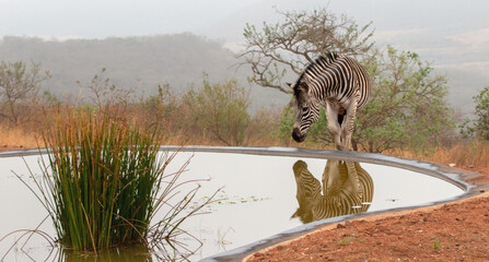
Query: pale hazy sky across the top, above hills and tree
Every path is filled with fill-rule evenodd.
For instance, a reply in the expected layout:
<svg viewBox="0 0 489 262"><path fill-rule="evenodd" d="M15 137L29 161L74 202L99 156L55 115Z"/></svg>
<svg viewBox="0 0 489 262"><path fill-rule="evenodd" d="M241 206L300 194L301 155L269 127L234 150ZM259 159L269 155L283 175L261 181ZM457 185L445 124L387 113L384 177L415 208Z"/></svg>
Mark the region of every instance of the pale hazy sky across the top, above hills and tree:
<svg viewBox="0 0 489 262"><path fill-rule="evenodd" d="M329 7L381 29L489 26L486 0L0 0L0 36L101 38L199 32L233 15L270 20L282 10ZM248 10L249 12L246 12ZM463 27L463 26L462 26ZM461 29L465 29L462 28ZM456 28L455 28L456 29ZM242 28L236 28L242 31Z"/></svg>

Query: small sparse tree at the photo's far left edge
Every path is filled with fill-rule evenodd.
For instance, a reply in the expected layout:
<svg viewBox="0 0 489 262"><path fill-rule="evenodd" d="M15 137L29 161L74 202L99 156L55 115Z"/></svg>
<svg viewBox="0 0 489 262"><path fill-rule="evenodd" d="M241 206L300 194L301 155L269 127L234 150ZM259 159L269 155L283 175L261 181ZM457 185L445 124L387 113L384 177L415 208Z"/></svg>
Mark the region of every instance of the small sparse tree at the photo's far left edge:
<svg viewBox="0 0 489 262"><path fill-rule="evenodd" d="M0 63L0 118L18 126L30 121L35 112L40 83L51 75L40 63Z"/></svg>

